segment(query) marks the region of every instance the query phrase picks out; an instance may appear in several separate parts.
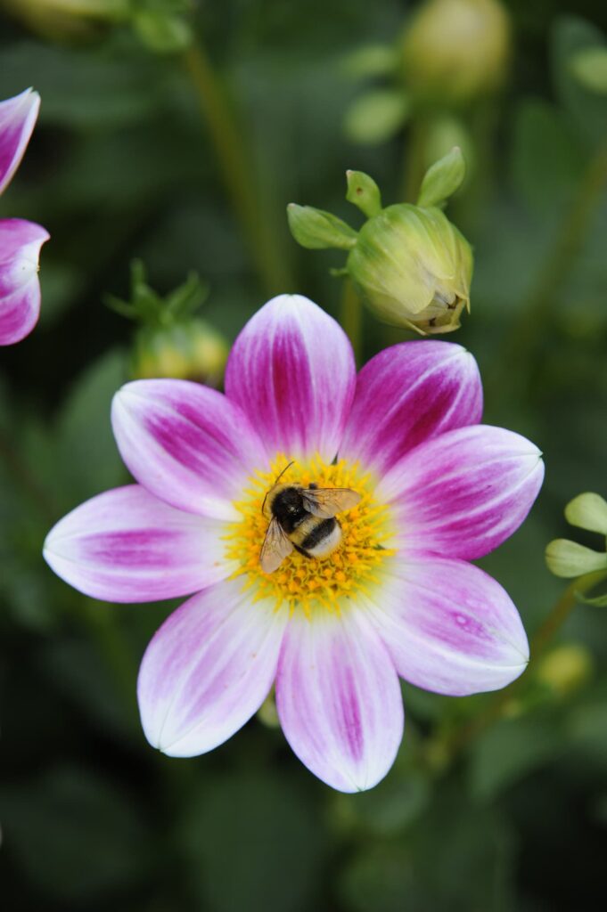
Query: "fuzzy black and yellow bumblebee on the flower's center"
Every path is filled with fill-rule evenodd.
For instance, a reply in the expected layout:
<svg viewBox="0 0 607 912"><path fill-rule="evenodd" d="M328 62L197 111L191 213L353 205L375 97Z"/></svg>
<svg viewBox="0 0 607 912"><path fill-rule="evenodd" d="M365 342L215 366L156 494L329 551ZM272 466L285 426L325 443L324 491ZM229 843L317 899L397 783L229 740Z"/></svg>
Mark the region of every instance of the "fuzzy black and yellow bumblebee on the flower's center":
<svg viewBox="0 0 607 912"><path fill-rule="evenodd" d="M306 557L327 557L341 541L335 516L351 510L360 500L361 494L351 488L319 488L316 484L301 488L275 482L261 508L269 519L259 556L261 569L274 573L293 548Z"/></svg>

